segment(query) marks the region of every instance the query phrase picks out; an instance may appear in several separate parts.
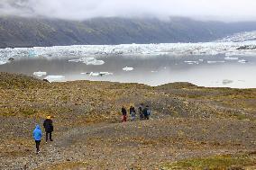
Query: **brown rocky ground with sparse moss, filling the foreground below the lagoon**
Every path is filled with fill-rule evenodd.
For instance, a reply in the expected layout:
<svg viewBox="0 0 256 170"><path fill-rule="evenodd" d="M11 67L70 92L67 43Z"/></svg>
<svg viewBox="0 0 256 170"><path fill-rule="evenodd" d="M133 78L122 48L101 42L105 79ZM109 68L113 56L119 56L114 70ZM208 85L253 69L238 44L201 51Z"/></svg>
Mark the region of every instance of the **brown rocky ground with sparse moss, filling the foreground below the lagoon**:
<svg viewBox="0 0 256 170"><path fill-rule="evenodd" d="M0 74L0 169L256 169L256 89ZM149 104L150 121L120 109ZM36 155L32 130L53 116Z"/></svg>

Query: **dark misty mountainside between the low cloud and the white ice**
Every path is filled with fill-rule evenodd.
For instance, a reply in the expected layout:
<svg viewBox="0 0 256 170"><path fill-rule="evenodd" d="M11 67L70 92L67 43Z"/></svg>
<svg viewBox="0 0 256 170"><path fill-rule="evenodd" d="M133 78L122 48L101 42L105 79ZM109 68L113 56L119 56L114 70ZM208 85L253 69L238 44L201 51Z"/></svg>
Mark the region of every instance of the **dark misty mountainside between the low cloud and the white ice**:
<svg viewBox="0 0 256 170"><path fill-rule="evenodd" d="M256 22L198 22L187 18L95 18L83 22L44 18L0 17L0 48L81 44L210 41L240 31L255 31Z"/></svg>

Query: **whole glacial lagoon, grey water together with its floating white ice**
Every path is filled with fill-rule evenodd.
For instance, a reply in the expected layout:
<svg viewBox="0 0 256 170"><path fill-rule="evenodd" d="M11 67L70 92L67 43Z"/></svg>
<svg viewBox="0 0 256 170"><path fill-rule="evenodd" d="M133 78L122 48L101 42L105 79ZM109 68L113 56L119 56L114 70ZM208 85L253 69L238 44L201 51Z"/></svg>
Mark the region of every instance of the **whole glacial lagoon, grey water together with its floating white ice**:
<svg viewBox="0 0 256 170"><path fill-rule="evenodd" d="M1 49L0 71L46 78L50 82L92 80L153 86L190 82L208 87L256 88L256 52L255 49L237 50L242 45L133 44Z"/></svg>

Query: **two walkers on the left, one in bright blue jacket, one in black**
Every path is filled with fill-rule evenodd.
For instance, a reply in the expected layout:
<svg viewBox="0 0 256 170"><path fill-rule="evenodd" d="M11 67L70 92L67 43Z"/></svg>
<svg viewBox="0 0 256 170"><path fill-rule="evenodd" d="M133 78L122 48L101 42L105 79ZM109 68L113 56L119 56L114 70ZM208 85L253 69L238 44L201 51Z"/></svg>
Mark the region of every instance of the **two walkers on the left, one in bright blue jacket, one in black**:
<svg viewBox="0 0 256 170"><path fill-rule="evenodd" d="M47 116L46 120L43 121L43 128L45 130L45 143L48 142L48 139L50 141L53 141L51 138L51 133L53 131L53 124L50 116ZM35 140L35 147L36 147L36 154L40 153L40 143L41 143L41 137L42 137L42 132L40 125L36 125L35 130L32 132L33 139Z"/></svg>

